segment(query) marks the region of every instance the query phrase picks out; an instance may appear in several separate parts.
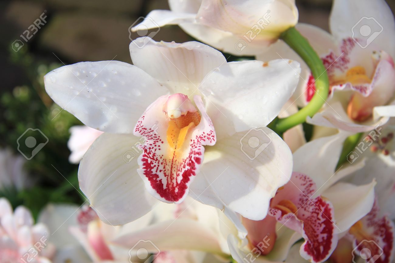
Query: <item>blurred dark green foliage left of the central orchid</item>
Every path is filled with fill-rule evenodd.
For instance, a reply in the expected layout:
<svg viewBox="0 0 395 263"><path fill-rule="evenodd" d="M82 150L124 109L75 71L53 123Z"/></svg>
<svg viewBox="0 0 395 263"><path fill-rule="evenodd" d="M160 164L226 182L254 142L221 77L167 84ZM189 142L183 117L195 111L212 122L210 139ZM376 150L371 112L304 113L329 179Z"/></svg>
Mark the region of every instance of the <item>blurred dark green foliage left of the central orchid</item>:
<svg viewBox="0 0 395 263"><path fill-rule="evenodd" d="M70 127L81 122L53 103L43 83L46 73L63 65L36 58L25 48L9 54L11 63L23 69L28 83L0 95L0 147L19 154L17 139L28 128L40 129L49 141L26 161L25 169L33 186L21 191L12 187L0 189L0 197L9 199L13 207L25 205L35 217L50 202L81 204L85 198L77 192L78 165L68 162L67 148Z"/></svg>

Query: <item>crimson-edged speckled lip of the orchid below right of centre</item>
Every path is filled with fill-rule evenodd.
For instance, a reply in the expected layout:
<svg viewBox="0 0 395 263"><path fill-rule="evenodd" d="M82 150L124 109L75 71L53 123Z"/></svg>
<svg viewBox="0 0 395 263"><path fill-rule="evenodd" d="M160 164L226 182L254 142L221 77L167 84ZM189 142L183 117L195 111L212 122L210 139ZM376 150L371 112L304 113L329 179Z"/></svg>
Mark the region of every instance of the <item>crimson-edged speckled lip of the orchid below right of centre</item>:
<svg viewBox="0 0 395 263"><path fill-rule="evenodd" d="M314 192L316 186L311 178L293 173L291 181L273 198L269 214L302 234L305 239L300 248L303 258L323 262L336 248L337 231L332 204L320 196L310 199Z"/></svg>

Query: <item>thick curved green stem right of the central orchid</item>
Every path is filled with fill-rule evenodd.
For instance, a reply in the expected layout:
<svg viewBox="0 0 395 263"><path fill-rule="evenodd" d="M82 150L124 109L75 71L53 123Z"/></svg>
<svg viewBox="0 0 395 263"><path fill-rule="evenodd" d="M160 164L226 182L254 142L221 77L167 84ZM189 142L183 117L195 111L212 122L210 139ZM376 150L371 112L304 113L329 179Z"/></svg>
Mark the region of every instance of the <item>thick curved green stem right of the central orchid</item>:
<svg viewBox="0 0 395 263"><path fill-rule="evenodd" d="M284 131L306 121L306 117L312 117L328 97L329 80L322 60L310 46L307 39L304 38L296 28L292 27L283 32L280 36L307 64L315 79L316 93L310 102L297 113L286 118L274 120L271 126L273 130L281 134Z"/></svg>

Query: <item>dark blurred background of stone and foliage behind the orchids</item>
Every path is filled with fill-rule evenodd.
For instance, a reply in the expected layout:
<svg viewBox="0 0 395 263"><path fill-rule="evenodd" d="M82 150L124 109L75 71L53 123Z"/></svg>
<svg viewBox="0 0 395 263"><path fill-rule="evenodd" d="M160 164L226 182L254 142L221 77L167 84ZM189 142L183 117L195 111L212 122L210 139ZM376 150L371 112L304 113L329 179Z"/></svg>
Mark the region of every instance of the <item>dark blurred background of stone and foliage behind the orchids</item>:
<svg viewBox="0 0 395 263"><path fill-rule="evenodd" d="M296 2L299 22L328 30L331 0ZM394 12L395 1L387 3ZM7 197L14 207L26 205L34 215L48 202L85 201L77 191L78 165L68 162L67 147L70 127L81 123L53 104L43 75L80 61L131 63L128 28L153 9L169 7L166 0L0 2L0 197ZM193 40L178 26L161 28L154 39ZM17 151L18 138L29 128L40 129L48 138L31 160Z"/></svg>

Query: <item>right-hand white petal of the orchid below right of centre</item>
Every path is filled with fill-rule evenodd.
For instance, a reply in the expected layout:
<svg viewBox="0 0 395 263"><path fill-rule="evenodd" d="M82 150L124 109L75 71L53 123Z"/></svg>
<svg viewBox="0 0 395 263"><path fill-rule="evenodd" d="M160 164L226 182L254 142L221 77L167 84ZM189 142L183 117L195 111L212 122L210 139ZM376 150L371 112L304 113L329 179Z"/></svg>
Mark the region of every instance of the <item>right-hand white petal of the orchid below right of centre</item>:
<svg viewBox="0 0 395 263"><path fill-rule="evenodd" d="M375 181L363 186L339 182L322 193L335 208L339 232L348 231L352 225L370 212L374 203L375 185Z"/></svg>

